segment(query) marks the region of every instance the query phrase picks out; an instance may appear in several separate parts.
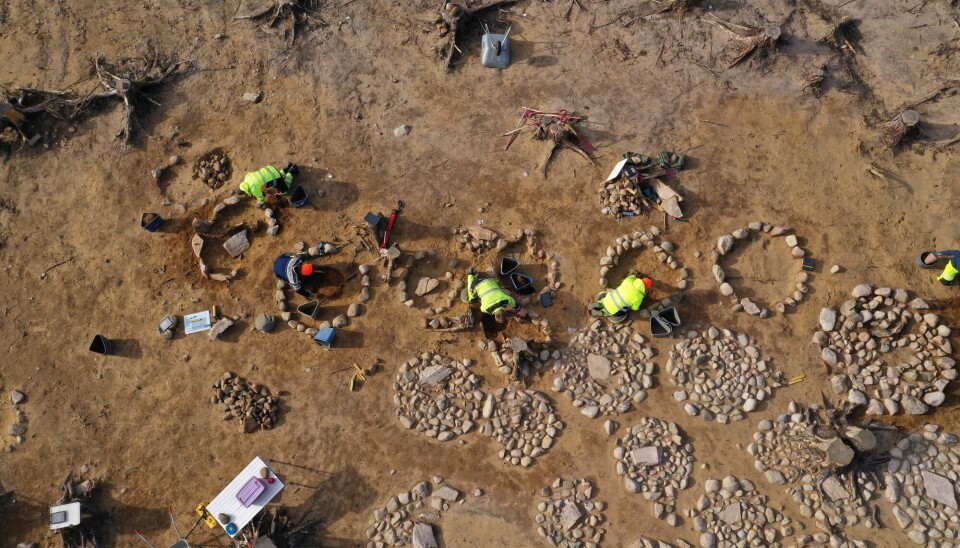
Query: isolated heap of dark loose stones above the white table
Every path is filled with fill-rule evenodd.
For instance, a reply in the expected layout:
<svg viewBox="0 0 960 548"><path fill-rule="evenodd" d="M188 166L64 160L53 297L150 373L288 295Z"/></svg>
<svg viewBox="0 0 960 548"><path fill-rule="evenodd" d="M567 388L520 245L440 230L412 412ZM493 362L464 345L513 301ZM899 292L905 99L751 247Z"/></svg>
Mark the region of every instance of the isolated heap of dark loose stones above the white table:
<svg viewBox="0 0 960 548"><path fill-rule="evenodd" d="M269 388L229 371L213 383L210 403L220 407L223 420L237 419L240 431L247 434L273 428L280 415L280 398L271 396Z"/></svg>

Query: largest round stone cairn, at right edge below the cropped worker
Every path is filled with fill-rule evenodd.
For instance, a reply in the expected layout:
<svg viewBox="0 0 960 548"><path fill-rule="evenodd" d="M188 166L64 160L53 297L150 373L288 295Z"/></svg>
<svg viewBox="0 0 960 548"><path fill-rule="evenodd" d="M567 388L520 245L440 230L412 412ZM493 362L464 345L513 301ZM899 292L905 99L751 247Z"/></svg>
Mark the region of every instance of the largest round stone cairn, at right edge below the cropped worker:
<svg viewBox="0 0 960 548"><path fill-rule="evenodd" d="M922 299L908 301L905 289L861 284L851 295L839 311L820 312L820 330L813 336L824 363L836 372L830 378L833 391L866 405L872 415L920 415L942 404L957 377L950 328L924 312ZM900 348L913 356L896 364L884 359Z"/></svg>

